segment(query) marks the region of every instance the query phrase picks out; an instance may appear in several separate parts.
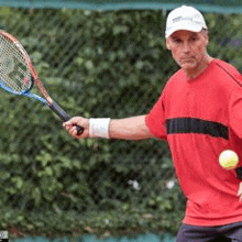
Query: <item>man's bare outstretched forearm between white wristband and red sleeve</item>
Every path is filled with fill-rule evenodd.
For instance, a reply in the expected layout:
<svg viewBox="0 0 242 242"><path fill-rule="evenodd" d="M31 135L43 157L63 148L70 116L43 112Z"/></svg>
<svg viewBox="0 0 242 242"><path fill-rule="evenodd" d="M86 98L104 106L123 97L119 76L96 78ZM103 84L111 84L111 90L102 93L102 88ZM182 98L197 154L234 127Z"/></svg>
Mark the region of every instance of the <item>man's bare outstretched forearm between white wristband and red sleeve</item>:
<svg viewBox="0 0 242 242"><path fill-rule="evenodd" d="M145 123L145 116L112 119L109 127L110 139L144 140L153 138Z"/></svg>

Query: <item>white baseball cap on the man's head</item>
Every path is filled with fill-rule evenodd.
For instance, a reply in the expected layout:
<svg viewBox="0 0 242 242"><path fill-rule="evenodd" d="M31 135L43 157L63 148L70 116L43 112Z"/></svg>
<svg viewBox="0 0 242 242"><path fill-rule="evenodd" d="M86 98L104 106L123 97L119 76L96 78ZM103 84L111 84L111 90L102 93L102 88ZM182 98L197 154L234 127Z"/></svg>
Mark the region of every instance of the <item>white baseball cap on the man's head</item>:
<svg viewBox="0 0 242 242"><path fill-rule="evenodd" d="M165 37L178 30L200 32L202 29L208 29L202 14L193 7L182 6L168 14Z"/></svg>

